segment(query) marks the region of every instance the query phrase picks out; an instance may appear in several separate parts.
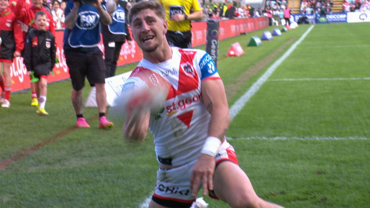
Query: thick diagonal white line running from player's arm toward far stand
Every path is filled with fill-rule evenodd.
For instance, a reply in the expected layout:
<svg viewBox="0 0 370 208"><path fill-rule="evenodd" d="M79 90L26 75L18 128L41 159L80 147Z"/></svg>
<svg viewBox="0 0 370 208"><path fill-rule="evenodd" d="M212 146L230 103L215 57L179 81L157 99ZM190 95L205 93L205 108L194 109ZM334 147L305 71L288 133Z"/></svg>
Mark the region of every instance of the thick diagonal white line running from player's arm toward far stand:
<svg viewBox="0 0 370 208"><path fill-rule="evenodd" d="M275 61L267 71L249 88L246 93L242 95L230 108L230 118L231 121L235 118L235 116L239 113L240 110L244 107L244 105L249 101L249 99L256 94L259 88L262 86L263 83L267 81L267 79L271 76L271 74L275 71L275 69L293 52L293 50L302 42L302 40L307 36L307 34L312 30L313 25L307 29L305 33L303 33L302 37L299 38L278 60Z"/></svg>

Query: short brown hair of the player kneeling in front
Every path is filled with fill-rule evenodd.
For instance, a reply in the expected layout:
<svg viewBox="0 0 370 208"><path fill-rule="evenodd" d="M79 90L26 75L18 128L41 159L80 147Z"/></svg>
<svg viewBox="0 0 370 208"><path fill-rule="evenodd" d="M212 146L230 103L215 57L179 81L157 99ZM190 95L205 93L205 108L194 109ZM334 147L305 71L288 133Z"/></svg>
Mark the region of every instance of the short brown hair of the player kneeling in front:
<svg viewBox="0 0 370 208"><path fill-rule="evenodd" d="M158 1L139 1L128 12L128 22L131 24L132 17L144 9L154 10L158 17L165 19L165 10L161 3Z"/></svg>

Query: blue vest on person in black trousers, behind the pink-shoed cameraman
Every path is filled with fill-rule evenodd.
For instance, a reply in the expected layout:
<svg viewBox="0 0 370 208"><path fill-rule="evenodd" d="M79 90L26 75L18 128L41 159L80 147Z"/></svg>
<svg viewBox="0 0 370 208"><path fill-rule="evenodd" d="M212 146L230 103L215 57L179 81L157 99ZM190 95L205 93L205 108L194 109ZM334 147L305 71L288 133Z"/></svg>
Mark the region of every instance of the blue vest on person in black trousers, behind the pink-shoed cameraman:
<svg viewBox="0 0 370 208"><path fill-rule="evenodd" d="M107 10L107 5L102 4L102 7L105 11ZM108 29L112 34L120 34L120 35L127 35L126 28L125 28L125 10L118 4L117 9L113 12L112 15L112 24L108 25Z"/></svg>

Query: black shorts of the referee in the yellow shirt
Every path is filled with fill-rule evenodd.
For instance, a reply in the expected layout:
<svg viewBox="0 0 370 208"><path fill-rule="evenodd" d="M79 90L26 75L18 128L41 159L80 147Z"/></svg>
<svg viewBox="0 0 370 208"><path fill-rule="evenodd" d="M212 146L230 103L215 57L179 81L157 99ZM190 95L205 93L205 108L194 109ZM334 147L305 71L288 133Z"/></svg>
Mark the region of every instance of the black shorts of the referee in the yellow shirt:
<svg viewBox="0 0 370 208"><path fill-rule="evenodd" d="M191 48L191 31L180 32L168 30L166 38L169 46Z"/></svg>

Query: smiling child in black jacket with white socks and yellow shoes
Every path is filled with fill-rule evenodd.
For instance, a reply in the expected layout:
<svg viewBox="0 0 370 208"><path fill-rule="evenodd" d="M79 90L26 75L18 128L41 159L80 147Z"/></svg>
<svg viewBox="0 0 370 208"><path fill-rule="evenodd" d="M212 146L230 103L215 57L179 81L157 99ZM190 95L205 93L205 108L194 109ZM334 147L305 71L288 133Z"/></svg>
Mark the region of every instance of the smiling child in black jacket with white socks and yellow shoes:
<svg viewBox="0 0 370 208"><path fill-rule="evenodd" d="M55 65L55 38L50 31L46 30L47 16L43 11L35 14L36 29L31 30L24 44L24 64L28 75L32 72L39 78L38 90L40 97L36 106L36 113L48 115L45 111L47 94L47 76Z"/></svg>

